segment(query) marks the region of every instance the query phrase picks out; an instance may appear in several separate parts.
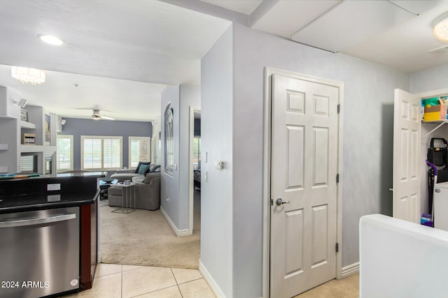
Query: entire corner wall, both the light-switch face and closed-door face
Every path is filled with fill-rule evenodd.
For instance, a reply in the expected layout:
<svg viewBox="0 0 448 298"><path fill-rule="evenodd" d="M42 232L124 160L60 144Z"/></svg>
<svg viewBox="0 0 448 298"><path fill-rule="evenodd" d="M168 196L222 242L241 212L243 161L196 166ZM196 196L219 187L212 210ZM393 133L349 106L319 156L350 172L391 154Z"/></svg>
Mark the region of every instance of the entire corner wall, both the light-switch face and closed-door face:
<svg viewBox="0 0 448 298"><path fill-rule="evenodd" d="M262 202L265 67L344 84L342 267L359 260L360 216L392 213L393 95L395 88L409 90L409 75L240 24L232 28L202 59L202 153L209 154L209 181L203 162L201 260L226 297L261 297L263 208L269 208ZM229 176L213 168L221 154L231 163ZM212 174L223 177L215 182Z"/></svg>

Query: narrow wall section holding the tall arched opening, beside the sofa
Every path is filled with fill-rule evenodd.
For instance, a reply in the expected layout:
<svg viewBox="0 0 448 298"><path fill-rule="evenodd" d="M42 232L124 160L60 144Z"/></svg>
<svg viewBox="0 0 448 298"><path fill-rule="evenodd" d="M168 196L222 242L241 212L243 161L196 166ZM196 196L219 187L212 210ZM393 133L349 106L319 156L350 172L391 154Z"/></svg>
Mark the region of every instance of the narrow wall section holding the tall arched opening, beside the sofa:
<svg viewBox="0 0 448 298"><path fill-rule="evenodd" d="M165 172L165 110L167 105L171 103L173 108L173 126L174 126L174 164L179 169L179 86L167 86L162 92L161 98L161 140L162 140L162 163L161 165L161 181L160 181L160 207L171 218L172 223L179 227L179 170L173 170L172 174Z"/></svg>

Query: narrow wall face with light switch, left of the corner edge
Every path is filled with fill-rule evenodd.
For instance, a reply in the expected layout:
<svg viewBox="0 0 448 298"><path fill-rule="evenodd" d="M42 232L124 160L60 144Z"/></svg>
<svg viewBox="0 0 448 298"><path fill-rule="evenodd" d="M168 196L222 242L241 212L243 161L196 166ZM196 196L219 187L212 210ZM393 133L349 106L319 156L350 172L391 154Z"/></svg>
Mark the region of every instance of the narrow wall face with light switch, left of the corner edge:
<svg viewBox="0 0 448 298"><path fill-rule="evenodd" d="M232 27L201 61L201 265L232 295ZM207 161L206 161L207 156ZM223 170L214 161L224 161ZM205 175L207 173L207 181Z"/></svg>

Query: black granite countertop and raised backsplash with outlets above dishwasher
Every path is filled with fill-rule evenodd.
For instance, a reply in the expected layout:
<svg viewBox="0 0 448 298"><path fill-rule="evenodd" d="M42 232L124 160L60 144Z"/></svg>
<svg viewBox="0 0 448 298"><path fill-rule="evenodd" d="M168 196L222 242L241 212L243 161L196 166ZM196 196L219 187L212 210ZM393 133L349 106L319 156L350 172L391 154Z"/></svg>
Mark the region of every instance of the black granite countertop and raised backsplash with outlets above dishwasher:
<svg viewBox="0 0 448 298"><path fill-rule="evenodd" d="M0 180L0 214L76 207L96 202L102 173ZM57 185L55 191L48 185Z"/></svg>

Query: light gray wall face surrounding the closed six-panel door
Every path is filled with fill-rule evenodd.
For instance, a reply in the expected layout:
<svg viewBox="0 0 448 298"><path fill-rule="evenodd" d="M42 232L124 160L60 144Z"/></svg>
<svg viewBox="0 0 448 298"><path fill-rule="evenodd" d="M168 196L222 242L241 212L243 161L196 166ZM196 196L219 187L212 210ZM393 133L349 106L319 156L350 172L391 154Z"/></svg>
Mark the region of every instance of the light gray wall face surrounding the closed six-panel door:
<svg viewBox="0 0 448 298"><path fill-rule="evenodd" d="M239 24L234 29L232 297L260 297L267 205L262 202L264 67L344 82L343 267L359 260L360 216L392 212L393 90L409 89L409 75Z"/></svg>

